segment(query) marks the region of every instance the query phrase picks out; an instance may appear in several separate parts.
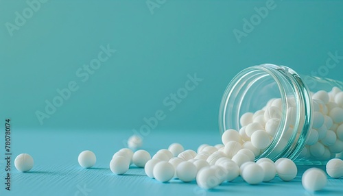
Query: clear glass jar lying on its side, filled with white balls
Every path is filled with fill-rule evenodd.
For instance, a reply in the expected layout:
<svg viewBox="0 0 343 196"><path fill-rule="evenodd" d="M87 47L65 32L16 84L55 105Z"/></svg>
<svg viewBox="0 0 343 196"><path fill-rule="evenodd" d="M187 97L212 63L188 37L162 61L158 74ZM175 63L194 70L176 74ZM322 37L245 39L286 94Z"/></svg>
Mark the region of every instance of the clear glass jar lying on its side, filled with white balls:
<svg viewBox="0 0 343 196"><path fill-rule="evenodd" d="M336 134L340 125L343 128L343 117L335 121L330 117L333 108L338 114L343 111L334 101L342 89L343 82L300 76L287 66L251 66L238 73L224 92L220 132L239 131L243 146L252 143L250 136L256 130L268 132L268 147L256 148L256 159L285 157L298 164L323 164L343 151L343 138ZM254 130L250 123L262 128Z"/></svg>

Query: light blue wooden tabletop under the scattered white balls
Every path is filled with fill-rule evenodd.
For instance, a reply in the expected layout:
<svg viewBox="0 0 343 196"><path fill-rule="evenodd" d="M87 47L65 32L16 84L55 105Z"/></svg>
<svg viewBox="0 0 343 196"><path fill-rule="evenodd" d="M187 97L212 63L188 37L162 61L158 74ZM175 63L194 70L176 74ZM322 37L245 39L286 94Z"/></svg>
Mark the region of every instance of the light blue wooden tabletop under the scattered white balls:
<svg viewBox="0 0 343 196"><path fill-rule="evenodd" d="M171 180L157 182L147 177L143 169L131 167L125 175L114 175L109 162L115 151L125 147L123 139L132 132L52 132L18 131L12 133L12 191L5 191L5 172L1 162L0 195L343 195L343 179L331 179L324 190L309 193L301 185L301 175L307 168L298 166L298 175L291 182L276 177L272 182L249 185L238 177L211 191L198 188L196 182ZM143 149L154 154L178 142L185 149L196 149L202 143L220 143L219 132L154 131L144 138ZM92 169L78 164L80 151L90 149L97 156ZM1 151L3 152L3 151ZM14 158L31 154L35 164L32 171L20 173L14 169Z"/></svg>

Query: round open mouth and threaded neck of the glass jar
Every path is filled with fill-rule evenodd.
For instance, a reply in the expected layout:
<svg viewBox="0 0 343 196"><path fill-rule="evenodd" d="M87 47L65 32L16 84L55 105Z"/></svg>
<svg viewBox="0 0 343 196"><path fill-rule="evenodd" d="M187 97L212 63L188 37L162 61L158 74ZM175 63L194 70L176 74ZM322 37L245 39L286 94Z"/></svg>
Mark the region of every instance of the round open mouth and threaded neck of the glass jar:
<svg viewBox="0 0 343 196"><path fill-rule="evenodd" d="M258 99L257 99L258 98ZM220 104L220 133L239 130L246 112L266 107L270 99L281 99L281 118L272 143L257 156L276 160L295 159L305 146L311 130L312 101L300 76L287 66L261 64L238 73L228 84Z"/></svg>

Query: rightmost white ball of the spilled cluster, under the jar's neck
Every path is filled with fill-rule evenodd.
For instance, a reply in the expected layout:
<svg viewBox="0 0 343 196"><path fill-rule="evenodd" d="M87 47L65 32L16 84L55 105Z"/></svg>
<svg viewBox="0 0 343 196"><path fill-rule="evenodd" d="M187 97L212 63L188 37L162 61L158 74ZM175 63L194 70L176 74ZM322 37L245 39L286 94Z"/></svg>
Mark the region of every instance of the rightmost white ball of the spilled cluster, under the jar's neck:
<svg viewBox="0 0 343 196"><path fill-rule="evenodd" d="M275 163L275 167L276 173L278 173L279 177L283 181L293 180L296 177L296 174L298 173L298 168L296 167L296 164L288 158L284 158L277 164Z"/></svg>

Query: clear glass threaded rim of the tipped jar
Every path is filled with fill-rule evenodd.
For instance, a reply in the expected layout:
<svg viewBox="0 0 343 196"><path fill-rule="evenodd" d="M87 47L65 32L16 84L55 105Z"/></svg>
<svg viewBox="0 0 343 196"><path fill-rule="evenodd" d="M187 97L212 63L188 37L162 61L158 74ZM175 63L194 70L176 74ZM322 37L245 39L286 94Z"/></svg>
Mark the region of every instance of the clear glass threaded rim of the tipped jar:
<svg viewBox="0 0 343 196"><path fill-rule="evenodd" d="M287 104L287 93L291 93L296 98L296 113L297 113L297 121L294 128L294 133L292 134L292 138L288 140L285 149L281 151L279 154L274 155L272 159L277 159L281 157L287 157L291 159L295 159L300 151L305 147L305 143L307 140L307 136L309 134L309 130L311 130L311 110L312 110L312 101L310 96L309 88L307 88L306 84L300 78L298 73L289 69L287 66L278 66L275 64L261 64L257 66L250 66L243 71L239 72L231 82L226 87L224 91L224 95L222 97L222 102L220 104L220 116L219 116L219 126L220 126L220 133L222 134L228 128L233 128L239 130L239 110L240 106L234 106L241 104L242 96L245 95L244 92L249 90L249 85L246 85L247 78L254 78L261 79L261 75L268 75L274 79L277 86L279 87L281 100L282 100L282 110L283 115L281 117L281 124L279 125L279 130L277 135L272 140L272 143L265 149L261 157L268 157L272 154L272 151L276 148L276 145L279 144L281 137L285 134L285 129L287 128L286 119L288 118L288 104ZM230 125L233 127L228 127L226 125L226 118L227 115L230 114L228 110L233 110L236 108L238 111L233 115L233 119L235 122L230 122ZM283 129L283 131L281 131ZM296 136L296 132L300 131L300 135ZM298 138L296 138L298 137ZM259 157L260 157L259 156ZM259 158L257 157L257 158Z"/></svg>

